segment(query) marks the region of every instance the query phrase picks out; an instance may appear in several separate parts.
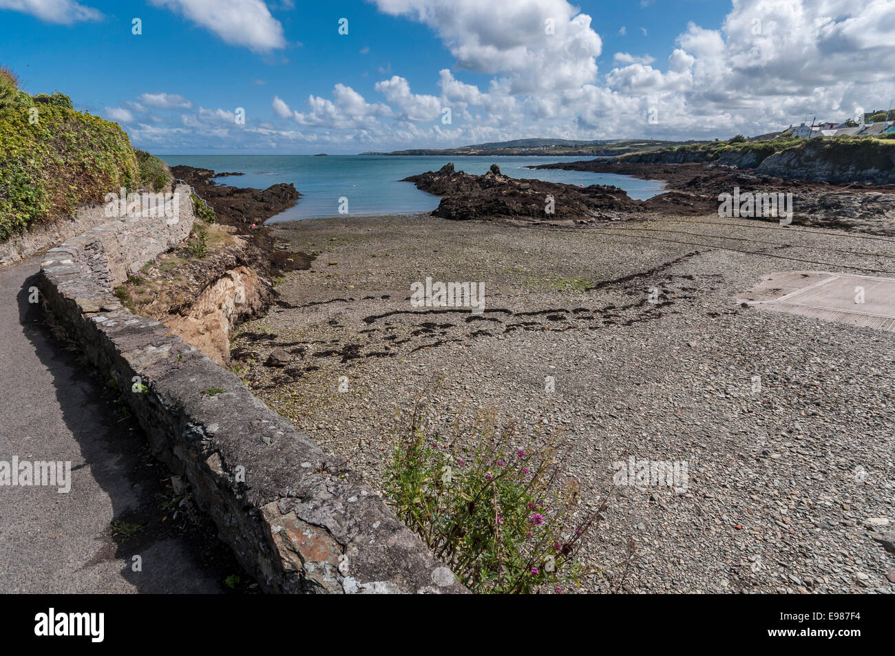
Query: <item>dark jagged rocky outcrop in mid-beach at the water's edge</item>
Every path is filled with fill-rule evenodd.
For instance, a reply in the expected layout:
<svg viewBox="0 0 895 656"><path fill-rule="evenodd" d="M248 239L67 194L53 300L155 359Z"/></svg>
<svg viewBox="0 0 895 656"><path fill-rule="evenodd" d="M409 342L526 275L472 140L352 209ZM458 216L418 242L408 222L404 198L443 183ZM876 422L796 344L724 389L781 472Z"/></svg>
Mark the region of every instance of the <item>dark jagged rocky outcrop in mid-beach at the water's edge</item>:
<svg viewBox="0 0 895 656"><path fill-rule="evenodd" d="M432 216L464 220L513 218L526 221L611 221L623 214L642 211L618 187L521 180L501 175L492 165L485 175L456 171L453 164L439 171L412 175L404 182L444 198Z"/></svg>

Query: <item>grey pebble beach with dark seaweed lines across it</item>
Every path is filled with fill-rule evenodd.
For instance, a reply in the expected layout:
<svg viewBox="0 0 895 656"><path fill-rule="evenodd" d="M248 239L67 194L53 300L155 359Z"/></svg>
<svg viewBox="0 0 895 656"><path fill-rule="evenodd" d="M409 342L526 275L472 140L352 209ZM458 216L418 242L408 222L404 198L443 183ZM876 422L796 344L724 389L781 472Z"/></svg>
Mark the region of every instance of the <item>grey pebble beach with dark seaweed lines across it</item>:
<svg viewBox="0 0 895 656"><path fill-rule="evenodd" d="M717 216L276 232L320 254L240 329L234 365L374 488L396 407L443 376L433 424L465 407L515 418L535 443L561 430L585 502L609 499L584 592L895 592L895 557L867 529L895 524L895 335L734 301L772 271L895 277L892 240ZM485 311L412 308L427 276L484 282ZM290 362L266 366L277 347ZM613 484L632 456L686 463L686 486Z"/></svg>

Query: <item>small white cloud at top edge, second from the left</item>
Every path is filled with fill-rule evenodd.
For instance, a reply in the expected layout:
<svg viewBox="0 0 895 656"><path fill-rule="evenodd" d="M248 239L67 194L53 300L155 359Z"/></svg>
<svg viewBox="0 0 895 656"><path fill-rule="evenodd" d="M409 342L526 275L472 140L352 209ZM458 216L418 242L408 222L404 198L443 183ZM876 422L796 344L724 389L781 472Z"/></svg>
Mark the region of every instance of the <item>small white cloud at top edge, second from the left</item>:
<svg viewBox="0 0 895 656"><path fill-rule="evenodd" d="M149 0L157 7L181 13L233 46L268 52L286 47L283 25L263 0Z"/></svg>

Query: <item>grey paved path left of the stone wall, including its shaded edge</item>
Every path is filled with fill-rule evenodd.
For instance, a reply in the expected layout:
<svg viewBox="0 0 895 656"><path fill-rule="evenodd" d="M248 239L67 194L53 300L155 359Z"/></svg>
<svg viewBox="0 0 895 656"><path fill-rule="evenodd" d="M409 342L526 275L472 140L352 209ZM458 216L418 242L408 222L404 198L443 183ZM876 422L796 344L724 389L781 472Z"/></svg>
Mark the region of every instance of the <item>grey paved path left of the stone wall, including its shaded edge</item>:
<svg viewBox="0 0 895 656"><path fill-rule="evenodd" d="M158 467L138 467L140 430L29 302L38 269L0 268L0 461L71 461L72 488L0 486L0 592L221 592L181 536L113 541L113 519L158 515Z"/></svg>

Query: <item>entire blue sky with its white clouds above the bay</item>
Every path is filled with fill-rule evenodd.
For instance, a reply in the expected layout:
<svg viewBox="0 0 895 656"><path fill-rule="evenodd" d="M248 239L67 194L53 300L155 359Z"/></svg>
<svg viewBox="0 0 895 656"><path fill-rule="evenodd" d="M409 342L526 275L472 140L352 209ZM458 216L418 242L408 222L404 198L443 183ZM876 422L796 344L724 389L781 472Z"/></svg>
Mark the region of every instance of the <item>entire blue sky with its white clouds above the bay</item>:
<svg viewBox="0 0 895 656"><path fill-rule="evenodd" d="M158 153L728 138L888 106L893 21L891 0L0 0L0 64Z"/></svg>

